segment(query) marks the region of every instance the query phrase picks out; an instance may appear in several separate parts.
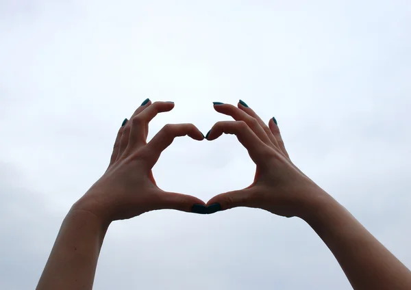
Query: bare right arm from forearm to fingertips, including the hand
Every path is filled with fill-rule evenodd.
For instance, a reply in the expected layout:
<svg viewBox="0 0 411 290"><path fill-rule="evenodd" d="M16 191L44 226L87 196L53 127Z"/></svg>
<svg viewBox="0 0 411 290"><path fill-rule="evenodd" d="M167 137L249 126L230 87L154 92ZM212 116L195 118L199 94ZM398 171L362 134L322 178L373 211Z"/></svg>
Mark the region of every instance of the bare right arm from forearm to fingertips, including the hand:
<svg viewBox="0 0 411 290"><path fill-rule="evenodd" d="M207 139L235 134L257 170L249 187L219 194L208 205L222 210L255 207L303 218L332 251L354 289L411 289L410 270L290 161L274 118L267 126L241 101L238 107L216 103L214 109L235 121L217 122Z"/></svg>

